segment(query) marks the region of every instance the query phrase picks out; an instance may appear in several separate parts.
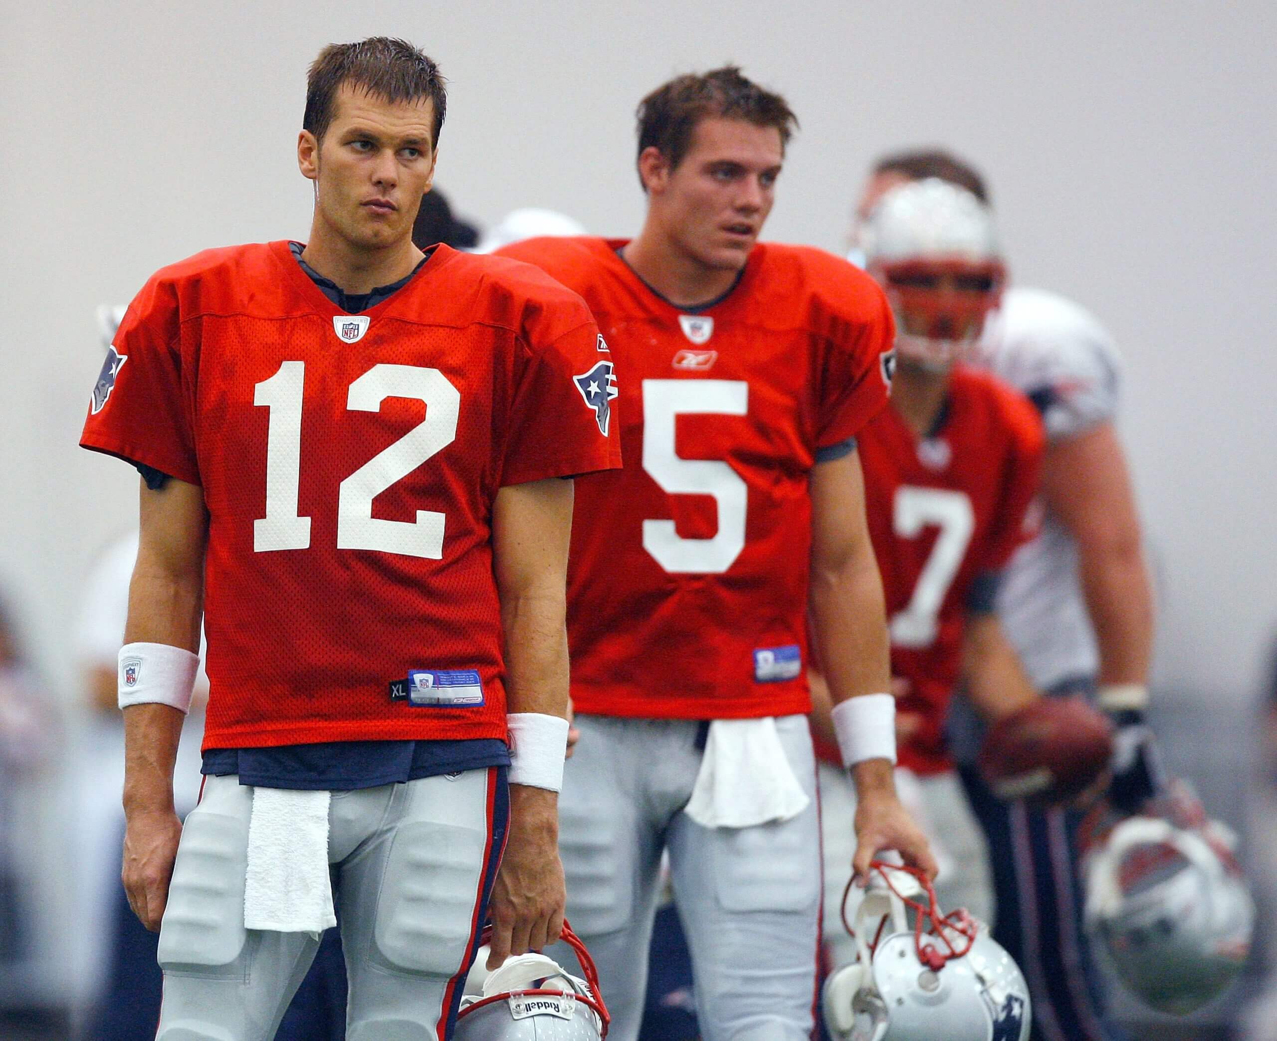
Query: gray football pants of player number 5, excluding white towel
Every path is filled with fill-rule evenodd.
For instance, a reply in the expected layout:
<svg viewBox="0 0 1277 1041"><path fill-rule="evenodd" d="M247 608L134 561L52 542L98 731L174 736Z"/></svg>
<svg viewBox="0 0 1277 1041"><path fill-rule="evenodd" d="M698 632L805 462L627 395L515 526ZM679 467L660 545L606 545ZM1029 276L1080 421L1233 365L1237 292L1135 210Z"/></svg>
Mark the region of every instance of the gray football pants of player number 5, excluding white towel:
<svg viewBox="0 0 1277 1041"><path fill-rule="evenodd" d="M578 715L559 794L567 916L598 968L612 1031L642 1022L660 855L687 934L705 1041L807 1041L820 915L816 765L807 719L776 720L811 805L793 820L702 828L687 805L700 723ZM557 961L571 954L555 948Z"/></svg>

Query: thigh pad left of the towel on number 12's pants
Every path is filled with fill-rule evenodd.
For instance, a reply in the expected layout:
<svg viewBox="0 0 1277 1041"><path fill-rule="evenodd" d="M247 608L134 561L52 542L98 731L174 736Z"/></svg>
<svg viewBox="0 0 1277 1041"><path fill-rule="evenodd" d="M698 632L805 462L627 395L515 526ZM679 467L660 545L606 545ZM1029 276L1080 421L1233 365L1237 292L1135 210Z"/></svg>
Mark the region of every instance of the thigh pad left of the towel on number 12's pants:
<svg viewBox="0 0 1277 1041"><path fill-rule="evenodd" d="M240 820L227 814L197 811L186 817L160 927L161 968L198 972L230 966L239 958L248 935L244 930L246 869L246 816ZM184 1041L185 1035L174 1035L174 1041L179 1038Z"/></svg>

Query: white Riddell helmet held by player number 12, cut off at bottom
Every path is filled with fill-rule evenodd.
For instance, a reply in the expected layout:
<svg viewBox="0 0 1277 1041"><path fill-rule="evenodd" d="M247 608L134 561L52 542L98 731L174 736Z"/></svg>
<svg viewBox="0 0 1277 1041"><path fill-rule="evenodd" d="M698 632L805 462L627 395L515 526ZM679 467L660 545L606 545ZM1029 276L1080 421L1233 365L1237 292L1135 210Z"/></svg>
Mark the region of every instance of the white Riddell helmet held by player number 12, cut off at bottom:
<svg viewBox="0 0 1277 1041"><path fill-rule="evenodd" d="M484 943L492 926L484 932ZM559 938L575 952L585 978L545 954L516 954L488 973L483 992L461 999L453 1041L600 1041L608 1009L594 959L567 922Z"/></svg>

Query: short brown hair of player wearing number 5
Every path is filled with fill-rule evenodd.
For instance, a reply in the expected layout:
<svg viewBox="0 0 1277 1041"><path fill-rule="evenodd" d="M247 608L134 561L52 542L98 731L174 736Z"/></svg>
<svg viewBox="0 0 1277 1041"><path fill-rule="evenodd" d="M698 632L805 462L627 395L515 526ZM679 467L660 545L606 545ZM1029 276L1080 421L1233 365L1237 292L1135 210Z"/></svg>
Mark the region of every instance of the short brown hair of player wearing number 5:
<svg viewBox="0 0 1277 1041"><path fill-rule="evenodd" d="M702 119L743 119L755 126L775 126L784 147L798 128L798 116L780 95L765 91L741 74L736 65L676 77L638 102L638 155L659 148L678 166ZM640 183L642 178L640 176ZM646 185L644 185L646 189Z"/></svg>

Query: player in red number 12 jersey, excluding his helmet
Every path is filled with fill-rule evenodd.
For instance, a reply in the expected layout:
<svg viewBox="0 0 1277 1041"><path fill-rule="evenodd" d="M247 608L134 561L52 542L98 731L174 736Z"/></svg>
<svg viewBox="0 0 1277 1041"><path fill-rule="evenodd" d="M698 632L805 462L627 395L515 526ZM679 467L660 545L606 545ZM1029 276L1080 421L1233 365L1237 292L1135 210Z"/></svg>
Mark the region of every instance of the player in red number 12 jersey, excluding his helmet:
<svg viewBox="0 0 1277 1041"><path fill-rule="evenodd" d="M160 929L160 1038L272 1037L335 895L351 1041L451 1036L489 898L494 962L562 925L563 478L619 465L612 363L541 271L412 245L443 116L411 45L327 47L310 240L161 270L93 391L82 443L144 476L124 884Z"/></svg>

